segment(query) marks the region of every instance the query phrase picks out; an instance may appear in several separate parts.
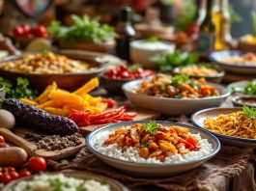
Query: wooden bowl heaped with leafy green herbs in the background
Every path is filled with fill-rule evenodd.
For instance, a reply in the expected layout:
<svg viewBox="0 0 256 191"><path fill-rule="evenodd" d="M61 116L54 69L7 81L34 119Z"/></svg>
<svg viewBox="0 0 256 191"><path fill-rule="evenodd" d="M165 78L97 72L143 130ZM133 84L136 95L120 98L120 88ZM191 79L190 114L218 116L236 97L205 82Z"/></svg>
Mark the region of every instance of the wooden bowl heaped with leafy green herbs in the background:
<svg viewBox="0 0 256 191"><path fill-rule="evenodd" d="M113 27L100 24L98 18L88 15L72 15L71 19L71 26L63 26L55 20L47 28L49 35L59 42L61 48L97 52L109 52L115 48Z"/></svg>

